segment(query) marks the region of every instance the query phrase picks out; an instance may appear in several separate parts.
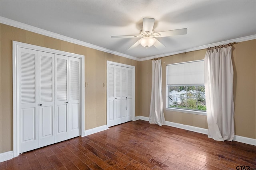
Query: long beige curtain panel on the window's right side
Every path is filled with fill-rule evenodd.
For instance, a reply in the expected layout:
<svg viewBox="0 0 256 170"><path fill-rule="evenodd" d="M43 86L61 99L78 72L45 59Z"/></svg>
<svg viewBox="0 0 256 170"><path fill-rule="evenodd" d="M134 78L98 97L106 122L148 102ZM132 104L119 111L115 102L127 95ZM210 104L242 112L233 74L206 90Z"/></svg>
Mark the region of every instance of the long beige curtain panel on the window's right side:
<svg viewBox="0 0 256 170"><path fill-rule="evenodd" d="M206 51L204 85L208 137L216 141L234 139L232 47Z"/></svg>

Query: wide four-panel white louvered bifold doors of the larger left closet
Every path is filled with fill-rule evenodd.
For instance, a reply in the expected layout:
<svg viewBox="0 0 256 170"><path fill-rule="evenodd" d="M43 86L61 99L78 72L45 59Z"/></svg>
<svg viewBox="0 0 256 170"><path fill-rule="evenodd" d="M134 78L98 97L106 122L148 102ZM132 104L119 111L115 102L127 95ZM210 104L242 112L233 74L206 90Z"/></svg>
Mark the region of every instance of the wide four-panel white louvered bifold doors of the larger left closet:
<svg viewBox="0 0 256 170"><path fill-rule="evenodd" d="M80 59L19 48L20 152L79 136Z"/></svg>

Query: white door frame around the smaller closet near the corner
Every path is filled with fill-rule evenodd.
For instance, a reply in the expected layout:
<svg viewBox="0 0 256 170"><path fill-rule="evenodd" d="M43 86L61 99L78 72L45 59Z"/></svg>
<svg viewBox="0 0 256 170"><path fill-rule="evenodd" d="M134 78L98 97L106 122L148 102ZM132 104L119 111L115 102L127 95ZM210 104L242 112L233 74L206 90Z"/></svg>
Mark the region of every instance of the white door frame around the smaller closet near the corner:
<svg viewBox="0 0 256 170"><path fill-rule="evenodd" d="M116 63L113 61L107 61L107 85L108 85L108 64L116 65L116 66L123 66L127 68L132 69L132 121L135 121L135 66L127 65L127 64L122 64L122 63ZM107 87L108 88L108 87ZM108 90L107 91L107 127L109 127L109 122L108 122Z"/></svg>

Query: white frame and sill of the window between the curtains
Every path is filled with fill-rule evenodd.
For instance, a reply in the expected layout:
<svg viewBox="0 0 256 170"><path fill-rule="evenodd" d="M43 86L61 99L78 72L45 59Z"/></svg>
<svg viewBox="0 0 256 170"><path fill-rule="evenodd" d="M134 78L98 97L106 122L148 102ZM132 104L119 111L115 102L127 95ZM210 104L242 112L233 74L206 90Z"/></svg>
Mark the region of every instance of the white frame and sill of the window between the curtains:
<svg viewBox="0 0 256 170"><path fill-rule="evenodd" d="M196 60L196 61L204 61L204 60ZM188 62L182 62L182 63L191 63L196 61L188 61ZM174 64L182 64L182 63L174 63ZM199 111L199 110L193 110L193 109L184 109L184 108L178 108L178 107L169 107L169 94L168 94L168 66L172 64L166 65L166 110L167 111L176 111L176 112L182 112L182 113L191 113L191 114L197 114L197 115L206 115L206 111ZM177 85L174 84L172 86L202 86L204 84L186 84L186 85Z"/></svg>

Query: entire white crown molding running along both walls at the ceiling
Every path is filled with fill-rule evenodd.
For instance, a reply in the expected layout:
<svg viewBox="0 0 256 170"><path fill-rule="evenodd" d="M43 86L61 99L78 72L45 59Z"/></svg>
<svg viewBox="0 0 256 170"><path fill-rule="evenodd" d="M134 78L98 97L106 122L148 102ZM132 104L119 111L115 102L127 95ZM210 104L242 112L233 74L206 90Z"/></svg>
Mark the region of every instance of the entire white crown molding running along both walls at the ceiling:
<svg viewBox="0 0 256 170"><path fill-rule="evenodd" d="M167 56L170 56L170 55L176 55L176 54L180 54L180 53L186 53L186 52L190 52L190 51L206 49L208 47L214 47L214 46L218 46L218 45L222 45L222 44L228 44L228 43L233 43L233 42L239 43L239 42L242 42L242 41L249 41L249 40L252 40L252 39L256 39L256 34L255 34L255 35L250 35L250 36L246 36L246 37L230 39L230 40L227 40L227 41L221 41L221 42L218 42L218 43L202 45L202 46L199 46L199 47L193 47L193 48L190 48L190 49L184 49L184 50L181 50L181 51L175 51L175 52L172 52L172 53L165 53L165 54L161 54L161 55L154 55L154 56L151 56L151 57L145 57L145 58L140 59L140 58L133 57L133 56L130 56L130 55L126 55L126 54L123 54L123 53L119 53L117 51L106 49L106 48L103 48L103 47L100 47L100 46L97 46L97 45L86 43L84 41L80 41L80 40L77 40L77 39L66 37L64 35L53 33L53 32L50 32L50 31L46 31L44 29L40 29L38 27L34 27L34 26L31 26L31 25L28 25L28 24L25 24L25 23L10 20L8 18L0 17L0 23L10 25L10 26L13 26L13 27L17 27L17 28L20 28L20 29L25 29L27 31L31 31L31 32L34 32L34 33L46 35L48 37L52 37L52 38L60 39L60 40L63 40L63 41L67 41L67 42L70 42L70 43L82 45L84 47L96 49L96 50L103 51L103 52L106 52L106 53L118 55L118 56L125 57L125 58L128 58L128 59L136 60L136 61L146 61L146 60L151 60L151 59L158 58L158 57L167 57Z"/></svg>

